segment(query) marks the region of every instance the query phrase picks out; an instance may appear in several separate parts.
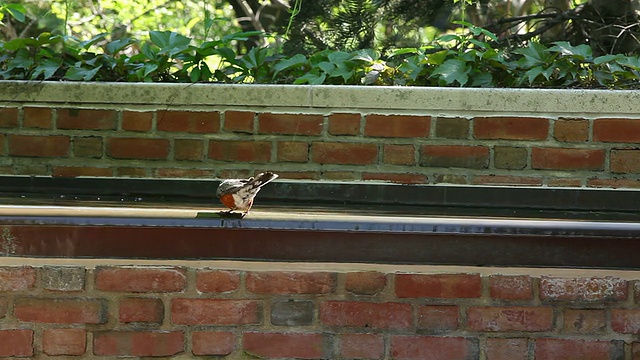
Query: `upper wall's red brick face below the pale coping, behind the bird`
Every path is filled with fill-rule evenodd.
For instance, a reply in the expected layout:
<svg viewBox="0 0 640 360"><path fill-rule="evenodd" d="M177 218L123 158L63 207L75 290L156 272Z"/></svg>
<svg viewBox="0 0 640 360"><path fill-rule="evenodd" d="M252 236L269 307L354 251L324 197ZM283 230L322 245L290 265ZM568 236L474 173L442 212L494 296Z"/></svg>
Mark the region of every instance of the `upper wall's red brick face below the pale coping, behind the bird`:
<svg viewBox="0 0 640 360"><path fill-rule="evenodd" d="M0 174L640 186L638 119L300 111L5 107Z"/></svg>

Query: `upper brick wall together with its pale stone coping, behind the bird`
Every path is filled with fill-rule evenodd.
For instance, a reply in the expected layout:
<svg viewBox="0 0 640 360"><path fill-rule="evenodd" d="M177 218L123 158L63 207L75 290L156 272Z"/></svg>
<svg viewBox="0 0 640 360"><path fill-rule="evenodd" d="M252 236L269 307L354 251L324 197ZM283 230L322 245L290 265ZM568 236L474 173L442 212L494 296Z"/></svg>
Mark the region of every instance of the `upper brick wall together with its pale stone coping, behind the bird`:
<svg viewBox="0 0 640 360"><path fill-rule="evenodd" d="M640 186L640 92L0 83L0 174Z"/></svg>

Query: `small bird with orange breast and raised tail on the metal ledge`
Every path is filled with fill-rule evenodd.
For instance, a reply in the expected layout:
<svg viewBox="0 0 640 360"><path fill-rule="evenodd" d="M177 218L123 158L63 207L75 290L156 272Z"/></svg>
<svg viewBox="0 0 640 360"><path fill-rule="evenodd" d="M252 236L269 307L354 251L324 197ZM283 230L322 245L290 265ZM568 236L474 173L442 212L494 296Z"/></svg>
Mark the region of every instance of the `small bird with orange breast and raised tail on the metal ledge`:
<svg viewBox="0 0 640 360"><path fill-rule="evenodd" d="M218 186L216 196L230 209L228 213L240 211L244 217L251 210L258 191L277 177L277 174L267 171L248 179L227 179Z"/></svg>

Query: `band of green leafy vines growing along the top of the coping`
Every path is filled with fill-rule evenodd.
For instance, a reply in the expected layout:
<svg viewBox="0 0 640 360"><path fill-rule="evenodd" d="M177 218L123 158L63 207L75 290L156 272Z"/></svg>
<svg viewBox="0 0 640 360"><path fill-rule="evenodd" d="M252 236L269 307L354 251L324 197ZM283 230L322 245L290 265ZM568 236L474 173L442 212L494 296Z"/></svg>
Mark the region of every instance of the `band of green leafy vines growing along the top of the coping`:
<svg viewBox="0 0 640 360"><path fill-rule="evenodd" d="M43 33L0 43L0 79L220 82L466 87L640 88L638 56L594 56L587 45L529 42L512 51L494 49L494 34L459 22L458 32L428 47L388 54L373 50L323 50L284 56L254 47L244 55L241 32L194 44L171 31L151 31L148 41L86 41ZM98 47L101 51L94 52Z"/></svg>

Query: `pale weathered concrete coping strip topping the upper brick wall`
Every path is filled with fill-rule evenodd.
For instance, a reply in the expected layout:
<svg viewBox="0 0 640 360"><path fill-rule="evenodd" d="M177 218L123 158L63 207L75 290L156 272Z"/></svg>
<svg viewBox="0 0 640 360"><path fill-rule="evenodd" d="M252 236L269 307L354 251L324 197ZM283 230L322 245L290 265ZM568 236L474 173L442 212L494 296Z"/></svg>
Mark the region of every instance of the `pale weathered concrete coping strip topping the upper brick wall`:
<svg viewBox="0 0 640 360"><path fill-rule="evenodd" d="M275 112L640 118L640 91L2 81L0 106L269 108ZM306 110L305 110L306 109Z"/></svg>

